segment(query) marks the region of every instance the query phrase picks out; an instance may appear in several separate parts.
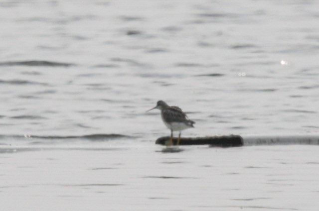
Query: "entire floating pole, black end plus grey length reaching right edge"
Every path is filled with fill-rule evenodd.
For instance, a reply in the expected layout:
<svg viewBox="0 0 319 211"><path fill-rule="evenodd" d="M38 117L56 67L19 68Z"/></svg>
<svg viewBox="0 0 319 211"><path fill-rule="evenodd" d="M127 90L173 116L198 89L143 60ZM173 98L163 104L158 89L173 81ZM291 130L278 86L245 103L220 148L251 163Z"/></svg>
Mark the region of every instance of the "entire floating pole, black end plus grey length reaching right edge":
<svg viewBox="0 0 319 211"><path fill-rule="evenodd" d="M169 136L160 137L156 144L167 145ZM173 145L176 145L177 138L173 138ZM254 145L288 145L306 144L319 145L319 135L223 135L180 138L179 145L210 145L214 147L239 147Z"/></svg>

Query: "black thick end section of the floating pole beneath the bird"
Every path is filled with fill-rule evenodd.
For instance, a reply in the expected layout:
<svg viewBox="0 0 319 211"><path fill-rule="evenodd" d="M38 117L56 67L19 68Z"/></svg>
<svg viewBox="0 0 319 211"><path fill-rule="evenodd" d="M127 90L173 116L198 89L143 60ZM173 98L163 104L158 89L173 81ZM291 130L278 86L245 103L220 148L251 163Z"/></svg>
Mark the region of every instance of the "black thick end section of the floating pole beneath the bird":
<svg viewBox="0 0 319 211"><path fill-rule="evenodd" d="M156 144L167 145L169 136L160 137ZM176 145L177 138L173 138L173 145ZM207 136L194 138L180 138L179 145L211 145L217 147L242 146L243 139L239 135Z"/></svg>

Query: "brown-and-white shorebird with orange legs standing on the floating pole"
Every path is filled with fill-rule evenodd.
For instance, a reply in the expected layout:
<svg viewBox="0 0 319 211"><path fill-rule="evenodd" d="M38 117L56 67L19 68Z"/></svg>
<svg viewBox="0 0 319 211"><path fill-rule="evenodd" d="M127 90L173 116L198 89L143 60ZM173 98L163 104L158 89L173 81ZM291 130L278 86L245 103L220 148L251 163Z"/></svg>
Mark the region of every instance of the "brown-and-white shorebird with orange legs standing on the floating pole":
<svg viewBox="0 0 319 211"><path fill-rule="evenodd" d="M158 101L157 105L150 109L160 109L161 119L168 129L170 129L169 146L173 143L173 131L179 131L177 146L180 142L181 130L194 127L194 121L188 119L187 115L177 106L168 106L163 101ZM148 111L150 111L148 110Z"/></svg>

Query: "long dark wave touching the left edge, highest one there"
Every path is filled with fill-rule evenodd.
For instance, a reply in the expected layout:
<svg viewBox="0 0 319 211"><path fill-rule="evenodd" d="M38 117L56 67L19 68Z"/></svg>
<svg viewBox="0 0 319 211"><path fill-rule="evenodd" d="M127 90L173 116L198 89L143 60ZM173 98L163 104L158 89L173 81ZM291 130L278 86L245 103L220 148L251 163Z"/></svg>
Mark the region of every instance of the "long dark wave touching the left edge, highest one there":
<svg viewBox="0 0 319 211"><path fill-rule="evenodd" d="M41 61L41 60L0 62L0 66L69 67L69 66L73 66L73 65L74 65L74 64L71 64L71 63L50 62L50 61Z"/></svg>

